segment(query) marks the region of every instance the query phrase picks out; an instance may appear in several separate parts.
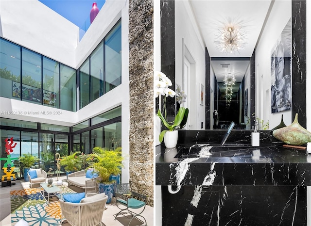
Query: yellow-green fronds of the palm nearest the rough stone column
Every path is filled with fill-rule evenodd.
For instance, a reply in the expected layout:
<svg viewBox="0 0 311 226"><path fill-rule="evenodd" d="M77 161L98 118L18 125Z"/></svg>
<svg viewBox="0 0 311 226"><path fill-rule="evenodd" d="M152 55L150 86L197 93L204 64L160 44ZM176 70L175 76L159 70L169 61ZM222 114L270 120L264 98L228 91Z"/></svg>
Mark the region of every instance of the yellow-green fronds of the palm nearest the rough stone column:
<svg viewBox="0 0 311 226"><path fill-rule="evenodd" d="M111 184L114 181L109 180L110 175L118 175L123 167L121 147L116 149L108 149L103 147L94 147L93 153L89 154L87 161L89 166L93 168L100 178L100 183Z"/></svg>

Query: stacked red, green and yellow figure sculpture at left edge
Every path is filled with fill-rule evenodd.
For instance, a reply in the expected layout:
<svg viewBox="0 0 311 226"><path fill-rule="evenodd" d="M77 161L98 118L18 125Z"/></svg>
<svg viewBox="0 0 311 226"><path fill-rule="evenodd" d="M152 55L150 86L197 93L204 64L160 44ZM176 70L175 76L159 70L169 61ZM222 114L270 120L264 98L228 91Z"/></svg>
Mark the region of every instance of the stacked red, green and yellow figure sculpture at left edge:
<svg viewBox="0 0 311 226"><path fill-rule="evenodd" d="M15 180L15 174L14 174L14 163L12 160L17 160L18 158L11 158L11 153L13 152L13 148L17 145L17 143L14 143L13 137L6 138L5 140L5 152L7 153L7 158L0 158L1 161L6 161L2 167L4 175L1 178L2 181L11 181Z"/></svg>

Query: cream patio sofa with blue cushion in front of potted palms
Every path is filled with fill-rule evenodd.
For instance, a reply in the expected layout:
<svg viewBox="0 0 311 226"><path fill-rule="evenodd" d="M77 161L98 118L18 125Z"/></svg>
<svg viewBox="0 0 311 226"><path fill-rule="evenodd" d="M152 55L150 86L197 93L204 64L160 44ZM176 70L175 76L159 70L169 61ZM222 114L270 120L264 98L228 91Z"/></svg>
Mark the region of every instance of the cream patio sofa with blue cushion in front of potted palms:
<svg viewBox="0 0 311 226"><path fill-rule="evenodd" d="M96 183L97 175L90 173L92 169L80 170L68 175L68 185L72 184L76 187L85 189L85 193L97 193L98 185Z"/></svg>

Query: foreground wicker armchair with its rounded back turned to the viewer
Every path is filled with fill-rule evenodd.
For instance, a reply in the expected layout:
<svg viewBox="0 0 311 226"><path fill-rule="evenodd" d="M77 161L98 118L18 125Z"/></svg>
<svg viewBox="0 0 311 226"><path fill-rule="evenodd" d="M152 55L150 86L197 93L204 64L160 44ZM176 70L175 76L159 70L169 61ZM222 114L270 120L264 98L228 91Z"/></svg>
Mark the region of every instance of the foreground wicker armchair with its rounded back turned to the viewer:
<svg viewBox="0 0 311 226"><path fill-rule="evenodd" d="M61 222L65 217L72 226L103 226L102 218L107 199L107 195L96 193L87 193L86 198L80 203L65 202L60 199Z"/></svg>

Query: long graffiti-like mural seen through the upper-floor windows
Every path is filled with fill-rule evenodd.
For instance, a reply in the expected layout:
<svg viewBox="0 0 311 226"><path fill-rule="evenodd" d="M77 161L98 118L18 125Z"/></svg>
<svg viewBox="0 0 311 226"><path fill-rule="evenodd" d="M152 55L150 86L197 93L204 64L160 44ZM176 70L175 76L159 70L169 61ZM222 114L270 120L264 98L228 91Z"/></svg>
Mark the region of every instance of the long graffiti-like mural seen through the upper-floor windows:
<svg viewBox="0 0 311 226"><path fill-rule="evenodd" d="M22 94L22 99L27 99L39 103L42 102L42 90L40 88L36 88L30 85L22 85L20 88L20 83L13 81L12 97L20 98L20 94ZM56 106L56 93L43 90L43 103Z"/></svg>

